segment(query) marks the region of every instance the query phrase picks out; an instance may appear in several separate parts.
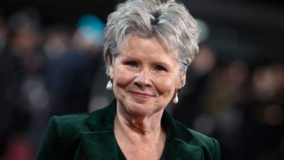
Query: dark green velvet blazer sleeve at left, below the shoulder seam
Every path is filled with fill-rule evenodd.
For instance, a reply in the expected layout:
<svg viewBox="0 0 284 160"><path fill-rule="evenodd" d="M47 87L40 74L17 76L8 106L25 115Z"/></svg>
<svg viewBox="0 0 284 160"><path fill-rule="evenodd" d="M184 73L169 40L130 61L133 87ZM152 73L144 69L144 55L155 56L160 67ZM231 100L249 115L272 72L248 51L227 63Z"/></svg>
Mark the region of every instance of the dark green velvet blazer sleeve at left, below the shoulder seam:
<svg viewBox="0 0 284 160"><path fill-rule="evenodd" d="M36 160L63 159L62 134L59 118L53 116L45 130Z"/></svg>

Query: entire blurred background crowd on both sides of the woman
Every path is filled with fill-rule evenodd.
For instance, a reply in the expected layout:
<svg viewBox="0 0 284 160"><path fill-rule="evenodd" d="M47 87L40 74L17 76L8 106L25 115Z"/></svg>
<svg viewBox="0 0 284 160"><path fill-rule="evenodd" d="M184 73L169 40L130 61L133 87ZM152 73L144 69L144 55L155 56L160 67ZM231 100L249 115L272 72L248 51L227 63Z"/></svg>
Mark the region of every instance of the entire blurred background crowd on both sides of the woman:
<svg viewBox="0 0 284 160"><path fill-rule="evenodd" d="M53 115L92 112L114 98L103 27L93 14L72 27L43 27L33 9L0 14L0 160L34 159ZM284 159L284 64L219 61L216 52L200 44L179 102L166 110L216 138L222 159Z"/></svg>

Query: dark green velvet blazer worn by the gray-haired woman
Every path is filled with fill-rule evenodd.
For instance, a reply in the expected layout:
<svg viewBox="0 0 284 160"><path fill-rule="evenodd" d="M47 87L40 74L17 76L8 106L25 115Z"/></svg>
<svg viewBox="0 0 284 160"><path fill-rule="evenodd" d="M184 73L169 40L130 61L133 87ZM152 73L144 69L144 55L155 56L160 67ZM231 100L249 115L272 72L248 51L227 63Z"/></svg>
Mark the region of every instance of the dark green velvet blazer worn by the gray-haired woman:
<svg viewBox="0 0 284 160"><path fill-rule="evenodd" d="M114 136L116 99L92 113L54 116L43 135L36 159L118 159ZM214 138L187 129L164 110L162 123L170 142L168 159L219 160Z"/></svg>

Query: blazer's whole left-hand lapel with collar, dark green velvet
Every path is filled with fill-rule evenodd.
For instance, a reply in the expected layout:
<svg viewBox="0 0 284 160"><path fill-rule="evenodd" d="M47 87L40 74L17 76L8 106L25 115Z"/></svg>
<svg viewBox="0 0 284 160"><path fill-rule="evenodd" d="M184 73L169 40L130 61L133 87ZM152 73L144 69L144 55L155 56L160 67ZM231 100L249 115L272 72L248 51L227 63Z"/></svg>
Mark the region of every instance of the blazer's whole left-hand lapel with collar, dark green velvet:
<svg viewBox="0 0 284 160"><path fill-rule="evenodd" d="M80 132L79 138L89 160L118 159L116 138L114 136L114 118L116 99L109 106L96 110L86 119L90 132Z"/></svg>

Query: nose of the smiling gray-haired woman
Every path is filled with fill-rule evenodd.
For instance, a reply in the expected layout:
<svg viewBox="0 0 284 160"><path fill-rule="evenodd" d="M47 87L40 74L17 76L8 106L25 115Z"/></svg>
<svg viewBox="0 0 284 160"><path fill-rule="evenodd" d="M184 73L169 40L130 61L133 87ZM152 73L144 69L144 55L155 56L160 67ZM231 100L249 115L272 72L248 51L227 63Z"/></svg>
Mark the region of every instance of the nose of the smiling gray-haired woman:
<svg viewBox="0 0 284 160"><path fill-rule="evenodd" d="M150 79L150 76L147 71L142 70L139 73L136 73L137 76L134 79L134 85L138 87L151 87L152 86L152 81Z"/></svg>

